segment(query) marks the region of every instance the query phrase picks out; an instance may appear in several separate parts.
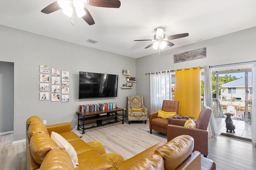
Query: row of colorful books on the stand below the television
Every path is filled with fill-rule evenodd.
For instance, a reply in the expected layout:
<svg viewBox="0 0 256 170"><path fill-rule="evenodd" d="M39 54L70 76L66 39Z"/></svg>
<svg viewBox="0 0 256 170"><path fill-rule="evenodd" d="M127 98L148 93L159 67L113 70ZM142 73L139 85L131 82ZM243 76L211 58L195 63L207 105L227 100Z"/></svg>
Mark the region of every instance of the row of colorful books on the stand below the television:
<svg viewBox="0 0 256 170"><path fill-rule="evenodd" d="M116 102L80 105L80 112L115 109Z"/></svg>

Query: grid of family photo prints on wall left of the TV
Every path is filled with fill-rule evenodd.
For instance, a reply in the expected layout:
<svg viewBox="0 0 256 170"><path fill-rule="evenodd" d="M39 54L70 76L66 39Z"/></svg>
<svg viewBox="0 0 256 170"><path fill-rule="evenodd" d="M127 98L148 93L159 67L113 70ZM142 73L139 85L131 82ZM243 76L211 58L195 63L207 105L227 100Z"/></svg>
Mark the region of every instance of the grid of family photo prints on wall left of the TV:
<svg viewBox="0 0 256 170"><path fill-rule="evenodd" d="M40 65L39 100L69 102L69 71Z"/></svg>

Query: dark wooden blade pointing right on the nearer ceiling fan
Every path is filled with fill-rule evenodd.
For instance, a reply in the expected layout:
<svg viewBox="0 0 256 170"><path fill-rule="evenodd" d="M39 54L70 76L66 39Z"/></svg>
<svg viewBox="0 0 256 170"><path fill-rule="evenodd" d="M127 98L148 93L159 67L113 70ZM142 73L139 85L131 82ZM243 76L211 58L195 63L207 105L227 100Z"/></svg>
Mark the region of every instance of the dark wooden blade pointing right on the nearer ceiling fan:
<svg viewBox="0 0 256 170"><path fill-rule="evenodd" d="M121 6L120 0L86 0L90 6L119 8Z"/></svg>

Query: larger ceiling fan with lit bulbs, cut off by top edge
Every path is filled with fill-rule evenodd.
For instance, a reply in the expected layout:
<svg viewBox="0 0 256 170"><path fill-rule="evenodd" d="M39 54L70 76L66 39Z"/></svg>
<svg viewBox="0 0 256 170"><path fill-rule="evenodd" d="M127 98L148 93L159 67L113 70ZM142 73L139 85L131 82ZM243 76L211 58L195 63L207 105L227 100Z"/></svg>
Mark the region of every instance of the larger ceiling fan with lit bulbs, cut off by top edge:
<svg viewBox="0 0 256 170"><path fill-rule="evenodd" d="M64 14L72 17L71 23L73 25L73 12L75 8L79 18L82 17L89 25L93 25L95 22L84 4L106 8L119 8L121 6L120 0L58 0L46 6L41 12L50 14L63 9Z"/></svg>

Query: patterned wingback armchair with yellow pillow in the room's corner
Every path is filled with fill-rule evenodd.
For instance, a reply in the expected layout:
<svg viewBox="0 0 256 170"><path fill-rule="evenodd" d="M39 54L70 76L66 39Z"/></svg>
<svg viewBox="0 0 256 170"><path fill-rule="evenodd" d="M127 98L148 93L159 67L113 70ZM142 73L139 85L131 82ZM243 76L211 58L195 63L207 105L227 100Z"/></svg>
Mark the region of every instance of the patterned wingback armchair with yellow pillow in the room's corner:
<svg viewBox="0 0 256 170"><path fill-rule="evenodd" d="M148 109L144 106L143 96L128 96L127 103L129 124L131 123L131 121L143 120L145 121L146 124L148 118Z"/></svg>

